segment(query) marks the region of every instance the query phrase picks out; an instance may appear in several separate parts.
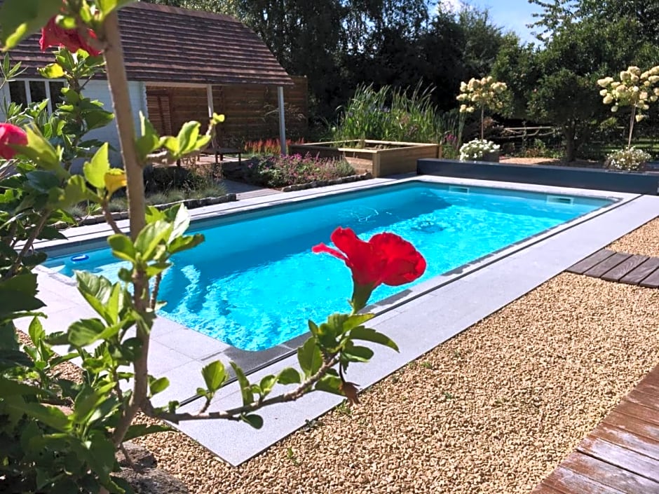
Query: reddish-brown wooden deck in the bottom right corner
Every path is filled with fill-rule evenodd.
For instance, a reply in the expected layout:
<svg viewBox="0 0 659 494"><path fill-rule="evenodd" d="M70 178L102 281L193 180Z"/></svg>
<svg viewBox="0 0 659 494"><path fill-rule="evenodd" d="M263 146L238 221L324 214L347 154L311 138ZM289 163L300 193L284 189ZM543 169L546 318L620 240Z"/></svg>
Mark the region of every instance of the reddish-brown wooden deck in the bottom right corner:
<svg viewBox="0 0 659 494"><path fill-rule="evenodd" d="M659 365L533 494L659 494Z"/></svg>

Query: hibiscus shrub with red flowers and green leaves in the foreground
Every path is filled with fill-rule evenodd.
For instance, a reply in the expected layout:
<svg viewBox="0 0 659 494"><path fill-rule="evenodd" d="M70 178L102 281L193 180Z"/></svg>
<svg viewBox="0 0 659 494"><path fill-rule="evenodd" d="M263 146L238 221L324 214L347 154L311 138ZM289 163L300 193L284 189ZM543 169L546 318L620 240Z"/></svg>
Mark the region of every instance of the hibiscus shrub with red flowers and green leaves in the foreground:
<svg viewBox="0 0 659 494"><path fill-rule="evenodd" d="M59 47L53 53L55 62L42 74L69 83L64 104L50 118L42 118L39 108L36 113L27 109L0 126L0 482L7 492L130 492L115 474L118 448L125 440L167 429L135 424L137 413L171 423L241 420L258 428L263 419L255 411L308 392L332 392L356 402L357 387L346 380L346 371L351 362L368 362L373 355L358 342L398 349L386 335L365 326L374 316L360 310L379 284L416 280L426 268L421 254L397 235L381 233L365 242L338 228L332 233L337 249L326 245L313 249L339 257L350 268L351 311L332 314L321 324L308 322L309 338L297 352L299 369L281 369L250 382L231 362L243 402L208 411L229 379L222 362L210 362L201 371L204 385L196 390L198 411L179 411L176 401L154 406L151 398L169 384L164 376L151 376L148 366L151 329L163 303L158 287L173 256L193 249L204 238L200 233L185 234L190 219L181 205L164 211L145 207L144 167L172 164L201 152L223 117L212 116L205 134L200 132L201 123L189 122L178 135L159 136L140 116L136 137L116 15L116 9L128 3L41 1L38 15L25 8L23 0L0 5L0 45L11 49L41 28L42 48ZM114 116L81 95L80 80L94 76L103 63ZM106 125L113 117L121 137L123 170L110 166L107 143L83 141L88 130ZM83 161L83 176L70 172L74 160ZM123 187L128 192L129 234L109 214L112 196ZM125 261L124 266L114 283L102 275L77 271L77 287L95 317L46 335L39 313L44 304L37 298L33 272L46 256L34 251L34 241L62 238L52 224L72 221L67 208L83 201L95 203L106 215L113 231L107 238L109 248ZM19 342L15 327L15 320L25 317L31 318L27 344ZM53 345L68 352L57 355ZM82 368L78 383L56 370L58 364L74 358ZM121 381L130 382L130 389ZM276 385L286 387L273 392Z"/></svg>

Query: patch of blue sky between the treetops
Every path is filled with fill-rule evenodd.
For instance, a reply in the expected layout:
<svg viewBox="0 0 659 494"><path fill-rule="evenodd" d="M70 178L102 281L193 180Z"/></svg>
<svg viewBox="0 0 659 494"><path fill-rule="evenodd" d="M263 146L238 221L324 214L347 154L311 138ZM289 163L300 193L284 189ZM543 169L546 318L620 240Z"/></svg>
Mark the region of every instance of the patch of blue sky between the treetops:
<svg viewBox="0 0 659 494"><path fill-rule="evenodd" d="M481 10L487 8L494 25L503 27L504 32L514 31L523 42L537 43L526 25L534 22L531 14L540 11L540 8L536 4L529 4L528 0L443 0L441 3L449 8L459 8L461 4Z"/></svg>

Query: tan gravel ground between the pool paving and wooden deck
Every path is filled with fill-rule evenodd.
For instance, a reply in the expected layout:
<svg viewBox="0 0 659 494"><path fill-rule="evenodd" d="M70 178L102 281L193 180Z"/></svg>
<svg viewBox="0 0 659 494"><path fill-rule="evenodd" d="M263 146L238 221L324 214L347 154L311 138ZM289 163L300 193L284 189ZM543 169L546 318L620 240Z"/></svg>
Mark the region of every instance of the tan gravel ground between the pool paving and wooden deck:
<svg viewBox="0 0 659 494"><path fill-rule="evenodd" d="M611 247L653 254L658 228ZM529 493L658 362L658 302L564 273L242 467L178 432L139 442L198 494Z"/></svg>

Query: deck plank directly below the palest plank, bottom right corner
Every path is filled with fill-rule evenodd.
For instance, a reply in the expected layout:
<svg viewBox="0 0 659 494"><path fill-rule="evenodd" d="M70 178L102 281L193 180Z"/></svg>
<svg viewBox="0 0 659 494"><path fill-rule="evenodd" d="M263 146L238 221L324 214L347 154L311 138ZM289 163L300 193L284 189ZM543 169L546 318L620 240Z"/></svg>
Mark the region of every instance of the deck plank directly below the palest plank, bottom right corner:
<svg viewBox="0 0 659 494"><path fill-rule="evenodd" d="M613 465L583 453L571 453L562 463L562 467L571 469L589 479L602 483L625 494L658 494L659 483L643 476L627 472ZM578 491L575 492L578 494Z"/></svg>

